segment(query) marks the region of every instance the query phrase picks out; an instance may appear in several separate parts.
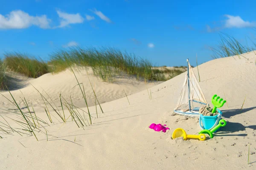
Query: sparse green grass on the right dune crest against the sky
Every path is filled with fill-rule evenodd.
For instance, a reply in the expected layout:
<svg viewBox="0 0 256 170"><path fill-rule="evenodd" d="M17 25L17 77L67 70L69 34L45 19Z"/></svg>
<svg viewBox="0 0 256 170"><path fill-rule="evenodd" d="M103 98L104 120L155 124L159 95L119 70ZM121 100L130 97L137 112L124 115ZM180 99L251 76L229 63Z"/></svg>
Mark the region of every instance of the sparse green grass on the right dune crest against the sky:
<svg viewBox="0 0 256 170"><path fill-rule="evenodd" d="M241 59L241 57L244 57L241 54L255 50L255 43L253 43L255 47L243 46L238 40L236 40L236 38L230 35L227 35L223 32L220 32L219 35L221 38L219 45L215 48L211 48L213 52L212 58L214 59L230 57L234 55L238 55L239 59Z"/></svg>

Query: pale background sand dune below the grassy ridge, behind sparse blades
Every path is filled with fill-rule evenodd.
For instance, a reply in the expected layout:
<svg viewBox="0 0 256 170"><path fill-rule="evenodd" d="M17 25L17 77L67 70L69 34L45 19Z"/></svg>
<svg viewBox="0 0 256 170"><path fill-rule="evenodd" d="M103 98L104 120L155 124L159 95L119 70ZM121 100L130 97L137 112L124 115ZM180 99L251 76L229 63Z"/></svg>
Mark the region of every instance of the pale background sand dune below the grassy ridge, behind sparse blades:
<svg viewBox="0 0 256 170"><path fill-rule="evenodd" d="M115 78L115 81L113 83L108 83L103 82L98 76L93 75L93 72L90 68L84 69L83 67L80 67L79 70L74 69L74 71L77 79L79 80L79 83L82 83L84 85L84 92L86 94L88 106L95 105L95 98L93 90L90 86L90 81L93 85L93 88L95 88L96 96L100 104L125 97L125 93L127 95L131 95L136 92L145 90L147 89L147 87L150 88L161 83L145 83L143 80L137 81L136 78L128 75L118 76ZM21 105L21 107L25 106L21 99L23 98L23 95L25 96L27 102L34 107L43 106L44 101L41 99L41 95L39 92L41 92L45 96L47 96L48 94L49 97L52 98L52 101L58 104L58 107L60 108L60 93L67 101L70 101L71 96L74 105L76 105L77 107L86 107L84 98L81 94L81 90L79 86L76 86L76 78L73 72L71 72L71 70L69 69L58 74L48 73L36 79L26 78L22 75L14 73L9 73L8 75L12 78L11 82L9 83L11 85L11 89L15 89L11 91L12 95L15 96L15 100L17 100L17 103ZM88 79L88 75L90 81ZM39 92L37 92L37 90L33 86L38 89ZM11 99L8 91L2 92L2 94ZM47 98L49 99L49 97ZM0 105L8 108L14 107L13 104L11 104L3 96L0 96ZM44 110L43 107L38 109Z"/></svg>

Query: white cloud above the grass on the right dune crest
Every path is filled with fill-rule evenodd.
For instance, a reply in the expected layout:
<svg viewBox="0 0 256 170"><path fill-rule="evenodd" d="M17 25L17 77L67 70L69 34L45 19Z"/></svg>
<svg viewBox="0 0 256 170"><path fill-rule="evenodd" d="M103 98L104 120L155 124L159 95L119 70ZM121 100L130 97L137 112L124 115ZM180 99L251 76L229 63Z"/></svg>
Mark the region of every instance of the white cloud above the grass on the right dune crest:
<svg viewBox="0 0 256 170"><path fill-rule="evenodd" d="M249 21L244 21L239 16L232 16L232 15L224 15L228 19L225 21L225 27L226 28L244 28L244 27L253 27L255 24L250 23Z"/></svg>

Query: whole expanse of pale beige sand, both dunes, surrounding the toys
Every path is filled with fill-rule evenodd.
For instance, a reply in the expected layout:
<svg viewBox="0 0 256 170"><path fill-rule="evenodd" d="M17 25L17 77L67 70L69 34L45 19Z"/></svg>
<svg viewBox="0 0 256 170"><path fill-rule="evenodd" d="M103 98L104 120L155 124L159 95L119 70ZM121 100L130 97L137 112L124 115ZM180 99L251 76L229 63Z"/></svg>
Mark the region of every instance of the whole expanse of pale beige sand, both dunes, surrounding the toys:
<svg viewBox="0 0 256 170"><path fill-rule="evenodd" d="M0 169L253 170L256 166L256 55L249 52L243 56L246 58L220 58L198 66L199 84L208 103L214 94L224 97L225 92L227 98L228 107L225 104L221 108L227 125L212 139L171 139L173 130L178 127L188 134L201 130L198 118L172 114L186 72L161 84L151 84L152 100L148 98L145 84L122 78L121 85L108 84L90 76L91 81L95 81L101 102L106 101L102 104L104 113L93 118L93 124L84 130L71 120L66 124L55 120L55 124L46 127L49 141L43 133L37 134L39 141L34 136L5 135L0 139ZM193 70L197 75L197 68ZM77 74L88 88L86 93L90 93L87 76ZM76 82L68 70L57 75L43 75L30 83L37 88L41 86L52 96L57 95L56 100L59 91L67 96L72 94L77 103L81 98L78 89L69 91ZM131 94L128 96L131 105L121 92L123 88ZM40 96L31 85L20 90L32 104L41 104ZM18 98L18 90L12 93ZM3 94L7 95L7 92ZM90 94L88 97L93 98ZM1 97L2 106L11 105ZM36 109L38 116L47 120L44 110ZM96 117L95 107L89 109ZM1 115L14 116L12 113ZM151 123L164 123L170 130L155 132L148 128ZM251 164L247 164L249 145Z"/></svg>

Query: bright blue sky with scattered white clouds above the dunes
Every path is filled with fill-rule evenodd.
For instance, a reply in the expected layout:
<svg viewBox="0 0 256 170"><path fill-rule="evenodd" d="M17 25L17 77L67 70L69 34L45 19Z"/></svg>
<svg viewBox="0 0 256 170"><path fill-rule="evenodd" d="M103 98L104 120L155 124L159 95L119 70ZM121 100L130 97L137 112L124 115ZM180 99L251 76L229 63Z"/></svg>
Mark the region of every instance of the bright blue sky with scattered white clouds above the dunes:
<svg viewBox="0 0 256 170"><path fill-rule="evenodd" d="M0 56L49 60L56 49L109 46L156 66L211 60L219 32L251 45L255 0L0 0ZM246 39L247 38L247 39ZM246 41L247 40L247 41Z"/></svg>

